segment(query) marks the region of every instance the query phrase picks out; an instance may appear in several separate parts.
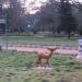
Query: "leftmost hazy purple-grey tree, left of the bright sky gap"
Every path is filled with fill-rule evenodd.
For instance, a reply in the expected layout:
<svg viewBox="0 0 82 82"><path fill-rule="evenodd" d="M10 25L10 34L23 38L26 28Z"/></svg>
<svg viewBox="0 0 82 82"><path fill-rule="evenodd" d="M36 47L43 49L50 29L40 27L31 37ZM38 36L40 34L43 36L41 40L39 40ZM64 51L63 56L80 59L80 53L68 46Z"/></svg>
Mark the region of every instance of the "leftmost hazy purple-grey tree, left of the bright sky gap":
<svg viewBox="0 0 82 82"><path fill-rule="evenodd" d="M17 31L19 24L22 17L24 16L24 8L20 0L0 0L1 8L2 5L9 5L8 9L2 9L7 14L7 25L11 31Z"/></svg>

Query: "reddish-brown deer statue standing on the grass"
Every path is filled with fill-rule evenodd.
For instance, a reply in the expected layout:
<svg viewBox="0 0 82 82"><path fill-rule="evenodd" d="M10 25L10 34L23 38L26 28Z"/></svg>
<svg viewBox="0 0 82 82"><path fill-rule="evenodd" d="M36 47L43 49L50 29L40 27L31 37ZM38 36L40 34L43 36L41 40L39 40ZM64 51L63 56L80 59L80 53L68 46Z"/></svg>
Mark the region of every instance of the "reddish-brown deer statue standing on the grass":
<svg viewBox="0 0 82 82"><path fill-rule="evenodd" d="M42 59L46 59L46 63L47 63L47 67L49 67L49 60L51 58L51 55L55 50L57 50L58 48L47 48L47 52L38 52L37 55L37 65L39 67L42 67Z"/></svg>

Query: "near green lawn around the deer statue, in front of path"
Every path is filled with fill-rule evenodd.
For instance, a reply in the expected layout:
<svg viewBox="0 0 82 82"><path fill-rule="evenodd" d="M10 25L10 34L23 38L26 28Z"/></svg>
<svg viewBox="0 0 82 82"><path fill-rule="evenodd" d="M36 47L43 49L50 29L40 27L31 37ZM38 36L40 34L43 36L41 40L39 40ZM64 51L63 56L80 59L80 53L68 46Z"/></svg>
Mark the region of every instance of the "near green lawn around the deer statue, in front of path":
<svg viewBox="0 0 82 82"><path fill-rule="evenodd" d="M45 60L43 66L45 66ZM36 54L0 51L0 82L82 82L82 63L75 57L52 55L52 70L36 70Z"/></svg>

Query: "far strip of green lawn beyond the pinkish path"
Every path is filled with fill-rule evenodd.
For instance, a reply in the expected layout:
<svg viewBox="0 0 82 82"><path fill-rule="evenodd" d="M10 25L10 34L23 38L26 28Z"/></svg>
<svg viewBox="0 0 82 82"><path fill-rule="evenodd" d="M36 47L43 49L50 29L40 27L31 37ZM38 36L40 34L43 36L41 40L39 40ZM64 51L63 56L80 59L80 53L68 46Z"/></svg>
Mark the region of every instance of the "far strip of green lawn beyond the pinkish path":
<svg viewBox="0 0 82 82"><path fill-rule="evenodd" d="M78 47L78 39L72 37L32 37L32 36L0 36L0 43L12 43L12 44L32 44L32 45L65 45Z"/></svg>

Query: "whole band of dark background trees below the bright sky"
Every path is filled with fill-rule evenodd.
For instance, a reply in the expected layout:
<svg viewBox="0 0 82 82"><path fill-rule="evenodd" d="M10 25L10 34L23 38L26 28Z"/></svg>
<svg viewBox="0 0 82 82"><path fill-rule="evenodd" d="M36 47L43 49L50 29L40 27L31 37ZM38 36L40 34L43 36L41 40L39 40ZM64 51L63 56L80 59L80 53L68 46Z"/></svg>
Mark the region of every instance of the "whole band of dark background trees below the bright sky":
<svg viewBox="0 0 82 82"><path fill-rule="evenodd" d="M47 31L52 32L54 35L56 33L61 35L63 32L68 37L72 32L82 34L82 4L80 2L48 0L35 14L25 13L24 2L20 0L0 0L1 9L4 3L9 4L7 9L8 28L13 32Z"/></svg>

